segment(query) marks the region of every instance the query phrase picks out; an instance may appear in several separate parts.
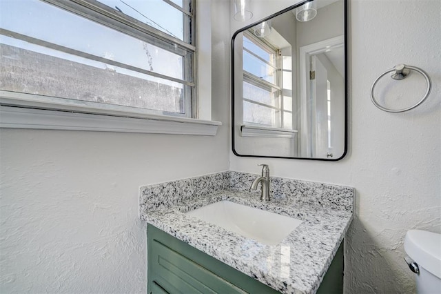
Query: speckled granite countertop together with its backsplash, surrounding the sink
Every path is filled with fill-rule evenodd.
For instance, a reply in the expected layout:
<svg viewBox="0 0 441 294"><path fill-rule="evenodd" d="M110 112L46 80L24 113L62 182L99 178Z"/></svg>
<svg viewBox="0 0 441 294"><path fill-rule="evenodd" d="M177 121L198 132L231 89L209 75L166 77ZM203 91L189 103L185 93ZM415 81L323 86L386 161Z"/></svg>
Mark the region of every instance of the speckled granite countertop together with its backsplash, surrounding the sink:
<svg viewBox="0 0 441 294"><path fill-rule="evenodd" d="M249 191L256 177L228 171L141 187L141 219L282 293L315 293L351 223L353 188L272 177L263 203ZM185 214L220 200L303 222L268 246Z"/></svg>

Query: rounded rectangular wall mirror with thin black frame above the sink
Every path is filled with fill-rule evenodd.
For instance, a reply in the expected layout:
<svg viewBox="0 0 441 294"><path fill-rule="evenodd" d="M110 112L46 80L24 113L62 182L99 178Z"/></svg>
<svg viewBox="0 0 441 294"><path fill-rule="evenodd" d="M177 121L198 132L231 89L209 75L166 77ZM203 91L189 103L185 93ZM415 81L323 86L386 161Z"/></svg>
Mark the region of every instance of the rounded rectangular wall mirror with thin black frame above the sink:
<svg viewBox="0 0 441 294"><path fill-rule="evenodd" d="M345 156L346 5L346 0L303 1L234 33L234 154Z"/></svg>

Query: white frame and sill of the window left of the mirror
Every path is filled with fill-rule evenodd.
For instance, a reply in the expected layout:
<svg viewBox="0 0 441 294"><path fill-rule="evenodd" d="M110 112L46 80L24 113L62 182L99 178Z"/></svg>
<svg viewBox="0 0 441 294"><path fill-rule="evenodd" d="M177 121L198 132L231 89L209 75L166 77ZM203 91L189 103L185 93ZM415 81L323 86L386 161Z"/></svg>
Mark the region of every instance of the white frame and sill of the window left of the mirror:
<svg viewBox="0 0 441 294"><path fill-rule="evenodd" d="M66 6L75 6L78 7L81 4L79 3L98 3L97 1L85 1L85 0L43 0L46 3L57 3L57 6L59 6L59 3L62 3ZM163 0L167 3L170 1ZM193 0L193 14L194 18L197 17L196 10L201 8L205 12L210 10L209 4L207 6L207 3L203 3L205 1L197 1ZM174 4L174 3L173 3ZM99 3L99 6L105 6L102 3ZM178 6L179 7L179 6ZM72 9L72 8L69 8ZM101 9L101 8L100 8ZM111 11L112 8L103 8L106 13L114 14L116 15L116 18L121 18L121 16L118 15L118 13ZM108 10L108 11L107 11ZM183 8L180 9L181 11ZM101 10L100 10L101 11ZM95 13L95 12L94 12ZM98 13L98 12L96 12ZM95 14L96 14L95 13ZM113 15L113 16L114 16ZM83 15L81 15L83 16ZM96 16L96 15L95 15ZM94 16L87 16L88 19L90 17ZM209 19L208 17L203 17L206 21ZM125 19L126 17L123 16L122 19ZM192 26L194 26L195 21L192 21ZM139 23L141 23L139 21ZM145 33L148 36L151 36L152 32L147 32L152 30L153 32L157 33L158 35L162 36L161 41L169 42L170 39L172 41L176 41L177 43L180 43L180 46L183 46L184 48L194 48L194 58L192 60L193 62L193 68L194 68L194 76L192 77L192 80L194 81L195 87L194 87L194 95L192 95L192 99L187 99L187 103L193 104L192 107L192 117L177 117L177 116L168 116L168 115L158 115L156 113L152 113L149 110L145 111L143 108L132 108L132 107L125 107L125 106L112 106L111 104L102 104L97 105L94 103L88 103L88 101L71 101L71 99L63 99L64 101L62 103L54 104L53 98L54 97L45 97L45 99L39 99L41 97L36 97L38 95L32 95L32 94L25 94L25 93L18 93L18 92L10 92L6 90L0 90L0 104L1 104L1 115L0 115L0 127L3 128L44 128L44 129L79 129L79 130L94 130L94 126L92 121L99 121L100 119L103 121L108 121L109 119L112 119L112 117L115 119L115 121L119 121L121 124L126 124L126 126L121 126L121 128L109 128L110 131L124 131L124 132L130 132L130 133L179 133L179 134L187 134L187 135L216 135L216 129L217 126L220 125L220 122L218 121L212 121L211 120L211 88L209 88L209 91L206 89L201 91L203 92L203 95L206 97L203 97L203 99L200 99L198 96L198 77L200 77L201 72L204 74L209 71L209 78L211 79L211 63L209 63L207 66L202 66L198 63L198 55L200 55L200 52L196 50L198 47L198 44L201 41L207 41L209 40L211 43L211 30L203 30L204 35L200 35L198 33L197 27L194 26L194 36L193 36L193 44L187 44L179 39L176 39L171 36L163 36L166 35L165 33L156 30L155 28L148 27L147 25L141 25L139 28L136 28L134 31L134 34L140 34ZM119 30L121 31L121 30ZM138 38L139 39L139 38ZM211 46L209 47L211 49ZM207 52L206 48L203 50L202 56L203 60L207 61L207 55L211 57L211 52ZM210 60L211 61L211 60ZM196 70L197 69L197 70ZM205 87L206 88L206 87ZM190 100L190 101L188 101ZM198 108L198 102L199 100L203 100L203 108ZM209 101L207 101L209 100ZM75 102L80 102L75 103ZM208 109L207 106L210 106L209 113L207 113ZM18 109L21 108L21 109ZM54 112L56 111L56 112ZM25 115L24 115L25 113ZM51 115L52 113L52 115ZM17 116L16 118L11 118L13 115ZM65 126L65 122L63 122L63 115L68 115L70 121L72 123L71 126ZM32 123L32 116L35 117L35 124ZM23 121L19 120L19 117L23 119ZM42 122L42 117L46 117L46 121ZM75 119L75 117L77 119ZM85 117L88 117L88 119L85 119ZM145 130L140 130L139 128L135 128L133 130L130 129L130 123L127 123L127 121L130 121L130 119L136 119L136 121L139 124L145 125ZM141 119L141 121L139 121ZM84 127L82 122L84 121L90 121L92 125L88 127ZM188 126L187 131L178 131L172 132L172 130L161 130L159 122L170 122L174 124L178 124L178 126ZM100 123L101 124L101 123ZM106 128L99 127L100 124L95 124L98 126L96 130L105 130ZM78 125L77 128L75 125ZM203 130L202 132L199 130L194 130L196 125L200 126L206 126L210 129L210 131L207 133L206 130ZM65 128L63 128L65 126ZM152 130L152 126L154 126L154 130ZM199 127L197 127L199 128ZM119 129L119 130L117 130ZM181 128L179 128L181 129Z"/></svg>

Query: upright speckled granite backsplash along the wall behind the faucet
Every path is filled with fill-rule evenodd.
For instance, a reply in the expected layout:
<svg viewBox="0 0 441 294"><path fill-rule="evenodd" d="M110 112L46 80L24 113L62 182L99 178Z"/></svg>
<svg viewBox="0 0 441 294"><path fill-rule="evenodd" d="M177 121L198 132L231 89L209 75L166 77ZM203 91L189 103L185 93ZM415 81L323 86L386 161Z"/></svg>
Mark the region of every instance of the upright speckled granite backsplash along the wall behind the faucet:
<svg viewBox="0 0 441 294"><path fill-rule="evenodd" d="M260 197L260 186L250 189L260 175L225 171L201 177L180 179L172 182L142 186L140 191L140 215L149 210L167 208L194 197L205 197L220 190L246 191ZM299 204L323 208L343 209L353 212L355 190L347 186L300 181L282 177L271 177L271 197L294 198ZM291 202L294 199L290 199Z"/></svg>

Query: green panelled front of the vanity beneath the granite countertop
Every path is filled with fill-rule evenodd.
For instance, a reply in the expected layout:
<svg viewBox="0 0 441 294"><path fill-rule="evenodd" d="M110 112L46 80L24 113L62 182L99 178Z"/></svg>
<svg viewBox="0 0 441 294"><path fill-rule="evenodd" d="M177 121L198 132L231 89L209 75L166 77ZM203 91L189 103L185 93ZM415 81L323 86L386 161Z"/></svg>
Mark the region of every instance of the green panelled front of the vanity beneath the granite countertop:
<svg viewBox="0 0 441 294"><path fill-rule="evenodd" d="M151 225L147 226L147 255L150 294L278 293Z"/></svg>

